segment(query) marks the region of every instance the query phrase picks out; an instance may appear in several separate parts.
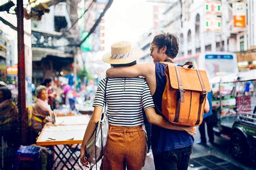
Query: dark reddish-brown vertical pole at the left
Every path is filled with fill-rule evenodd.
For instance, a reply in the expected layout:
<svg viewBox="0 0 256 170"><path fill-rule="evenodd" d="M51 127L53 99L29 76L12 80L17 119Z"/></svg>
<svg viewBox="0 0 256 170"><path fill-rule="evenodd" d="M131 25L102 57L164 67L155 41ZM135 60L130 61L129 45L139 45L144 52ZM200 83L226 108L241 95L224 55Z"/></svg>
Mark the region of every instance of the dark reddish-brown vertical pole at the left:
<svg viewBox="0 0 256 170"><path fill-rule="evenodd" d="M18 35L18 112L21 116L22 143L26 143L28 114L25 98L25 53L24 53L24 9L23 1L17 1L17 35Z"/></svg>

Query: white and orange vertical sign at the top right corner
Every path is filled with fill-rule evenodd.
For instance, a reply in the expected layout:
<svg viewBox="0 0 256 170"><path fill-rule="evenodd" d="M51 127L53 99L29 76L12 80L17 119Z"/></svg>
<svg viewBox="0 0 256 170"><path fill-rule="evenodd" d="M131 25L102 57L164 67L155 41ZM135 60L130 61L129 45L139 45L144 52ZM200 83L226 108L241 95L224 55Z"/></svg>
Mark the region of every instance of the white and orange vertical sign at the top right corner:
<svg viewBox="0 0 256 170"><path fill-rule="evenodd" d="M246 26L246 4L242 2L235 2L233 6L233 20L234 27Z"/></svg>

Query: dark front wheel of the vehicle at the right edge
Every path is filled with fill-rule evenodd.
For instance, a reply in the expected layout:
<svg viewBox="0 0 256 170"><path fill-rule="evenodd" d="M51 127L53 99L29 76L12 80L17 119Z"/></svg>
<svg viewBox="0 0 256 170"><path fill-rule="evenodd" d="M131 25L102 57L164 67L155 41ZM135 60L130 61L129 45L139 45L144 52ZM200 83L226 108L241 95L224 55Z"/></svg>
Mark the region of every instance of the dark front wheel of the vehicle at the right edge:
<svg viewBox="0 0 256 170"><path fill-rule="evenodd" d="M248 153L246 153L247 148L248 148L248 146L245 141L245 137L239 132L232 133L228 152L235 159L243 160L243 159L245 159L245 155L248 154Z"/></svg>

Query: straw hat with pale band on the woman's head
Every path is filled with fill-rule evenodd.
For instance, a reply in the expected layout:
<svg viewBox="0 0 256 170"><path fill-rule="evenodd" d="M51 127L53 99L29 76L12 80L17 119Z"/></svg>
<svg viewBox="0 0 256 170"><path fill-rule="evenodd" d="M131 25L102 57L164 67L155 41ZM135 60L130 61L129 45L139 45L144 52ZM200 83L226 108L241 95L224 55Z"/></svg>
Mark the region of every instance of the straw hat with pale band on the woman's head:
<svg viewBox="0 0 256 170"><path fill-rule="evenodd" d="M111 64L126 64L136 61L143 55L139 48L132 48L129 41L119 41L111 46L111 52L103 55L103 61Z"/></svg>

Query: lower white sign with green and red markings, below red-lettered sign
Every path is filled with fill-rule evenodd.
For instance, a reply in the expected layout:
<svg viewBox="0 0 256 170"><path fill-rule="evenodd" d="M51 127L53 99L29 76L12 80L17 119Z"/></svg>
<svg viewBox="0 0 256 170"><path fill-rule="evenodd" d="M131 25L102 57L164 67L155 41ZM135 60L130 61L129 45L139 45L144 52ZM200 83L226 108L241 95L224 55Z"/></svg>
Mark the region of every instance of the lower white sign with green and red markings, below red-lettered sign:
<svg viewBox="0 0 256 170"><path fill-rule="evenodd" d="M221 17L206 17L205 31L220 32L222 29Z"/></svg>

